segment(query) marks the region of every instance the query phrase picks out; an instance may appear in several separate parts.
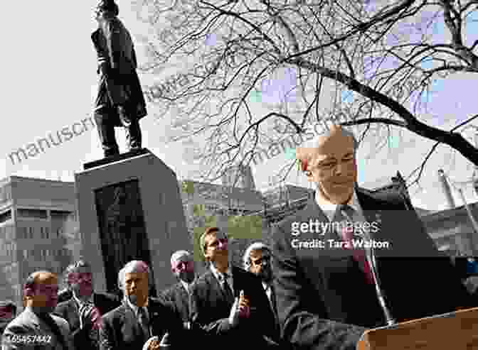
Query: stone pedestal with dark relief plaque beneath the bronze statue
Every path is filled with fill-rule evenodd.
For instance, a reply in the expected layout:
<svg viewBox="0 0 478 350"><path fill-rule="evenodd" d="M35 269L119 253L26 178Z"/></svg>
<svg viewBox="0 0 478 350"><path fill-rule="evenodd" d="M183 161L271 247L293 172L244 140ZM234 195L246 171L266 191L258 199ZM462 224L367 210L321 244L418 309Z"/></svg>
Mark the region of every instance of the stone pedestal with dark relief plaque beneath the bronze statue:
<svg viewBox="0 0 478 350"><path fill-rule="evenodd" d="M176 174L147 150L84 165L75 174L82 255L97 290L115 292L130 260L147 261L156 292L176 283L169 259L192 251Z"/></svg>

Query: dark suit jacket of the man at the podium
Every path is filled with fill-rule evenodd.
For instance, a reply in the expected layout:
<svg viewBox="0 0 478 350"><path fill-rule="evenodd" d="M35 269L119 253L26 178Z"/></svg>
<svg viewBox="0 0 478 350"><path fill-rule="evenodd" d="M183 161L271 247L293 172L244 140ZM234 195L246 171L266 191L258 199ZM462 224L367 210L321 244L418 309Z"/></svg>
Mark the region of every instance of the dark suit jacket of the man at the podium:
<svg viewBox="0 0 478 350"><path fill-rule="evenodd" d="M437 251L416 212L405 210L398 193L372 195L358 188L357 197L368 223L376 223L373 239L391 246L376 249L376 261L398 322L474 306L450 258ZM375 286L365 282L350 251L327 246L327 239L339 239L333 231L324 236L292 234L292 224L316 219L329 222L312 196L301 212L274 229L272 266L282 336L307 349L355 349L367 328L385 325L383 311ZM325 247L297 248L298 241L314 239ZM444 297L437 297L437 291Z"/></svg>

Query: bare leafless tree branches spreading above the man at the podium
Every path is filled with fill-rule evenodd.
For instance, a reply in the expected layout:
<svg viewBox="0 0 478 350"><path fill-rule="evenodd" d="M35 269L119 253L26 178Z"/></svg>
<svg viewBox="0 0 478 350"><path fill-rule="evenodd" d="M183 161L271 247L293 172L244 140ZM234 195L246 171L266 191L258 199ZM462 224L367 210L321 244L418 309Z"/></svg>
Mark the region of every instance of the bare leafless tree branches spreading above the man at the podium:
<svg viewBox="0 0 478 350"><path fill-rule="evenodd" d="M400 128L436 141L415 170L416 182L440 143L478 165L464 133L478 115L457 109L456 126L444 130L427 113L437 84L478 72L478 38L470 29L477 6L474 0L136 1L138 17L153 30L143 38L149 62L142 69L158 77L144 91L158 115L174 116L170 141L207 139L196 155L207 169L203 179L249 164L258 147L333 120L363 126L359 139L373 137L377 148L390 146L388 135ZM460 95L450 97L459 102L453 98ZM253 114L258 100L261 114Z"/></svg>

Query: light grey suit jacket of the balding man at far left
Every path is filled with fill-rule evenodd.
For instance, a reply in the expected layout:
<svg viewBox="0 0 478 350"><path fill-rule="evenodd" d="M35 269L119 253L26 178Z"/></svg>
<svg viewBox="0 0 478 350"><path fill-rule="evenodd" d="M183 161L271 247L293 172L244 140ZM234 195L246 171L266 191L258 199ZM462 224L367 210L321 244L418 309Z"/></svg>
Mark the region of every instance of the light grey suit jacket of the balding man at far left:
<svg viewBox="0 0 478 350"><path fill-rule="evenodd" d="M68 339L70 327L65 319L51 315L63 334L68 349L64 349L51 328L26 307L8 326L2 336L1 350L74 350ZM36 337L34 337L36 336Z"/></svg>

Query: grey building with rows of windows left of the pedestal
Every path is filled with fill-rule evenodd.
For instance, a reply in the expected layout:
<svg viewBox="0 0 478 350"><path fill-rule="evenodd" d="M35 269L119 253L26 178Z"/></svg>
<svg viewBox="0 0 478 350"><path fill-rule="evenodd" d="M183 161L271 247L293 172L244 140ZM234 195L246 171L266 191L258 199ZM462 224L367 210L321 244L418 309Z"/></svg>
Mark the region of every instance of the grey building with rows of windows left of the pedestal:
<svg viewBox="0 0 478 350"><path fill-rule="evenodd" d="M18 176L0 181L0 300L21 308L21 285L29 274L63 273L79 239L65 229L76 221L73 182Z"/></svg>

